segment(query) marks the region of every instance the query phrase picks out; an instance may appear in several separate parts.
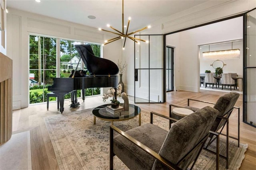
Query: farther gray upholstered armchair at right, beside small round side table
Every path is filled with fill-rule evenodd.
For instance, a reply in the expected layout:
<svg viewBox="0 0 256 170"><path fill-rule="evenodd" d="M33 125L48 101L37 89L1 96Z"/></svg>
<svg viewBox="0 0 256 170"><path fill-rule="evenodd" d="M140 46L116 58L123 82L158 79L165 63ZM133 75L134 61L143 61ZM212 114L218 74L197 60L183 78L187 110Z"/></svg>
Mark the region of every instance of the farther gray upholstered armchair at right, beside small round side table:
<svg viewBox="0 0 256 170"><path fill-rule="evenodd" d="M218 136L220 134L226 136L226 156L220 155L221 158L226 159L226 168L228 169L228 139L229 138L233 138L238 140L238 147L239 147L239 143L240 143L240 108L239 107L235 107L235 103L238 100L239 94L236 92L230 92L226 95L221 96L218 101L216 103L212 103L212 102L207 102L207 101L200 101L200 100L196 100L196 99L188 99L188 106L185 106L184 108L190 109L192 111L198 111L199 108L196 107L191 107L190 106L190 101L196 101L196 102L202 102L202 103L208 103L208 104L212 104L214 105L213 108L218 110L218 116L216 118L216 120L214 121L214 124L212 125L212 128L210 129L212 132L216 132L218 134ZM180 107L177 105L170 105L170 117L174 118L174 119L181 119L182 117L175 115L172 112L172 108L173 107ZM233 111L233 109L238 109L238 137L233 137L233 136L229 136L229 117ZM170 124L172 123L172 121L170 121ZM224 129L226 125L226 134L222 133L222 130ZM208 142L208 144L206 145L206 147L204 148L205 150L208 150L208 146L213 142L213 140L215 140L213 134L210 134L210 140ZM217 146L216 148L218 148L219 146ZM210 151L210 150L208 150ZM212 151L210 151L212 152ZM212 152L213 153L213 152ZM217 154L217 159L216 161L218 162L218 154Z"/></svg>

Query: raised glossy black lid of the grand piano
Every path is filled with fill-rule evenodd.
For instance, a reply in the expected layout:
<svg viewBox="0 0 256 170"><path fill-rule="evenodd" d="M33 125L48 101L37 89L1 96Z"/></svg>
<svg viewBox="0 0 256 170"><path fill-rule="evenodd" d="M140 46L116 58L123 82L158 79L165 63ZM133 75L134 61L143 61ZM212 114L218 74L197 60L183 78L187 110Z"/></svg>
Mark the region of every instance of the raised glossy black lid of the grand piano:
<svg viewBox="0 0 256 170"><path fill-rule="evenodd" d="M118 66L108 59L96 57L89 44L75 45L90 75L116 75Z"/></svg>

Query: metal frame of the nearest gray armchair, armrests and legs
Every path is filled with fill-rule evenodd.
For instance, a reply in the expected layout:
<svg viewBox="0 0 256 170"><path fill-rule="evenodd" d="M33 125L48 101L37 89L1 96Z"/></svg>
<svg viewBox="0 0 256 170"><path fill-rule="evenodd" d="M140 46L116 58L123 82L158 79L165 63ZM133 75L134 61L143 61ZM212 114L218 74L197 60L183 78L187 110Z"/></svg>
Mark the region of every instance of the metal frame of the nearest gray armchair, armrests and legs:
<svg viewBox="0 0 256 170"><path fill-rule="evenodd" d="M166 117L164 115L160 115L158 113L155 112L150 112L150 123L153 124L153 114L154 115L158 115L160 117L169 119L170 121L178 121L176 119L170 118L170 117ZM178 164L180 162L182 162L182 160L184 160L185 158L187 158L188 156L190 156L190 154L192 153L193 150L195 150L196 148L200 147L200 151L198 152L198 155L196 156L192 166L191 166L191 170L194 167L194 164L196 163L196 160L198 159L198 156L200 155L200 152L203 149L204 143L206 142L207 138L209 137L210 133L208 133L206 136L204 136L204 138L198 142L198 144L196 144L191 150L190 152L188 152L188 154L186 154L177 164L172 164L171 162L169 162L168 160L166 160L165 158L163 158L162 156L160 156L158 153L156 153L154 150L148 148L147 146L145 146L144 144L142 144L141 142L139 142L138 140L134 139L132 136L128 135L126 132L120 130L119 128L115 127L114 125L110 125L110 170L113 169L113 164L114 164L114 160L113 157L115 156L114 154L114 148L113 148L113 143L114 143L114 131L118 132L120 135L124 136L126 139L130 140L132 143L134 143L136 146L138 146L139 148L141 148L142 150L144 150L145 152L147 152L148 154L150 154L151 156L153 156L154 158L156 158L157 160L159 160L162 164L164 164L165 166L167 166L169 169L172 170L181 170L181 168L178 167ZM218 139L217 139L218 140Z"/></svg>

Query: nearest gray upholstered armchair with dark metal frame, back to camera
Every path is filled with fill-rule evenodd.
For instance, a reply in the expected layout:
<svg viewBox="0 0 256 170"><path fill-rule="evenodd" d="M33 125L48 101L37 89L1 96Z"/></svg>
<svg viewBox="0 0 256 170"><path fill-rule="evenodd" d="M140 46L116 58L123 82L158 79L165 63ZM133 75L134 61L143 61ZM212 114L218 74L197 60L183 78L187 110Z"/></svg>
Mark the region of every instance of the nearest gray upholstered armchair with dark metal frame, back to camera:
<svg viewBox="0 0 256 170"><path fill-rule="evenodd" d="M129 169L188 168L196 162L218 111L204 107L174 123L169 131L152 124L153 114L165 117L151 112L150 123L126 132L110 126L110 169L115 155ZM114 137L114 131L119 135Z"/></svg>

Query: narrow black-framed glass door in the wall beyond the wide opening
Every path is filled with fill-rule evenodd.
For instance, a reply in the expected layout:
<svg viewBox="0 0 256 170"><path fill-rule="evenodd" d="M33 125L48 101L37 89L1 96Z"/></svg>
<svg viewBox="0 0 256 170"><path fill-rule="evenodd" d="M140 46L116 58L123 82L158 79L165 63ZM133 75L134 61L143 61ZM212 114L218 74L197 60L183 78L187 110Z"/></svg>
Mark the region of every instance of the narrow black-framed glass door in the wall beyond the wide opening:
<svg viewBox="0 0 256 170"><path fill-rule="evenodd" d="M166 46L166 92L173 91L173 53L174 48Z"/></svg>

